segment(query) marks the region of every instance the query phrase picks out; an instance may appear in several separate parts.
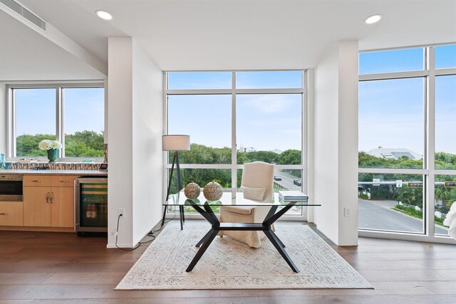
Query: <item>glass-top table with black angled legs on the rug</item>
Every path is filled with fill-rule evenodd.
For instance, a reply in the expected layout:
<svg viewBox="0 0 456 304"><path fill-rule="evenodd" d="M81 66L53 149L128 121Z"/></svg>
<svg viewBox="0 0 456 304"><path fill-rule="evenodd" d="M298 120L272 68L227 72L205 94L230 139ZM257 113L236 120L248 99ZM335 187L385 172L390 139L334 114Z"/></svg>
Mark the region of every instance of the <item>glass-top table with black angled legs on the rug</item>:
<svg viewBox="0 0 456 304"><path fill-rule="evenodd" d="M284 243L282 243L279 237L274 234L271 225L293 206L321 206L321 204L318 204L313 199L305 196L305 194L300 194L300 192L283 192L282 194L286 195L285 199L283 199L283 195L279 194L279 192L272 192L271 189L242 188L240 192L223 192L222 197L217 201L205 199L203 193L196 199L187 199L183 192L171 195L169 199L163 203L163 206L192 206L192 208L201 214L204 219L212 224L211 229L196 244L196 246L199 247L199 250L190 262L186 271L192 271L204 254L204 251L206 251L210 243L214 241L215 236L219 234L219 231L263 231L290 268L294 272L299 273L299 269L296 268L296 265L291 261L288 253L286 253ZM212 210L212 207L214 206L220 208L223 208L223 206L229 208L248 208L249 206L252 208L268 207L269 212L261 223L221 223ZM181 214L181 216L183 216L183 214Z"/></svg>

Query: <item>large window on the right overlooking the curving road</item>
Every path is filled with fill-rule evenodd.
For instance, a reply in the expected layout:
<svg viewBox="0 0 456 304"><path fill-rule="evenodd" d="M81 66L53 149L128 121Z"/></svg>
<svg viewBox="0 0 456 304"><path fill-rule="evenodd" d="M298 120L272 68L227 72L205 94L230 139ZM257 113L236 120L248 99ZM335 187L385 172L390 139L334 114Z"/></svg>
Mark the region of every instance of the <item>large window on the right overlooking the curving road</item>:
<svg viewBox="0 0 456 304"><path fill-rule="evenodd" d="M360 53L359 228L445 241L456 201L456 46Z"/></svg>

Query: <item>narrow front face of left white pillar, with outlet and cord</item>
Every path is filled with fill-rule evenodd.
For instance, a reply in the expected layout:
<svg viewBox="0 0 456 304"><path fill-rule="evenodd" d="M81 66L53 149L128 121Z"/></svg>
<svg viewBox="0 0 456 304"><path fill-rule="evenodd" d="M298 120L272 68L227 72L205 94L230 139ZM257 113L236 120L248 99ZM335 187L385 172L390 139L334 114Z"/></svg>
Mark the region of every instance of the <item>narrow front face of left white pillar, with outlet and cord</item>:
<svg viewBox="0 0 456 304"><path fill-rule="evenodd" d="M133 49L132 38L108 39L108 247L115 245L118 208L118 245L133 244Z"/></svg>

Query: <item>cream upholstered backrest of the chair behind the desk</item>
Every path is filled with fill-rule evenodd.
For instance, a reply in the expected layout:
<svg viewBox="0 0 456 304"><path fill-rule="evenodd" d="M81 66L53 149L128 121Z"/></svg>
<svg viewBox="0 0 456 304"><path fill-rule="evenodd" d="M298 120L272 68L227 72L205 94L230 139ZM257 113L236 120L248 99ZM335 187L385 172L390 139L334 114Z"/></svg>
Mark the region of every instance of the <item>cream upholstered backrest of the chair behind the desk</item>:
<svg viewBox="0 0 456 304"><path fill-rule="evenodd" d="M244 164L241 186L244 187L244 189L266 189L261 197L255 194L254 196L256 197L250 197L250 199L263 201L267 196L271 196L274 188L274 164L269 164L267 162L248 162L247 164ZM244 197L249 199L246 194L247 192L244 191Z"/></svg>

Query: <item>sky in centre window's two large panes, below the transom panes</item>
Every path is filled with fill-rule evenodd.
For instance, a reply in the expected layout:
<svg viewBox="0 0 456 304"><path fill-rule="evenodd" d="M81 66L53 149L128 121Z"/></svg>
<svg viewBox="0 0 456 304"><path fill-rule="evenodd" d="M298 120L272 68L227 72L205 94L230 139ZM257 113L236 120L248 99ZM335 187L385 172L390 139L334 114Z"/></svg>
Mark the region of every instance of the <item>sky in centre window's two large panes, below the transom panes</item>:
<svg viewBox="0 0 456 304"><path fill-rule="evenodd" d="M301 94L237 95L237 145L256 150L301 150ZM231 95L172 95L168 133L190 142L231 147Z"/></svg>

